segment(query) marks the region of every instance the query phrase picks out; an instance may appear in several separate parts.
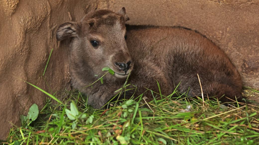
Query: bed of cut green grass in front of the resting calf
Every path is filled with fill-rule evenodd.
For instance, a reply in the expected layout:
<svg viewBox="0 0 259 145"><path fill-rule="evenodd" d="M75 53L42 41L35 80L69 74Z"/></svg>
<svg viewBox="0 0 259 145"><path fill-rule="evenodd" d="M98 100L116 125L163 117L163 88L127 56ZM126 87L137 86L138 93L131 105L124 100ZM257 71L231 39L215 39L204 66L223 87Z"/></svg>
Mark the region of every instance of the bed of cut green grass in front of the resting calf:
<svg viewBox="0 0 259 145"><path fill-rule="evenodd" d="M58 100L58 96L41 91ZM233 101L224 105L213 98L203 102L198 97L186 97L176 90L169 96L148 91L153 94L153 101L146 102L140 95L134 97L140 98L136 100L110 102L110 108L104 110L92 109L87 105L87 97L78 91L64 91L68 94L66 101L53 104L47 98L38 119L13 127L3 144L252 145L259 142L257 104L236 105ZM258 93L246 88L244 95L258 96ZM172 97L173 94L177 97ZM70 120L65 111L72 100L82 112L75 120ZM82 114L85 117L80 117Z"/></svg>

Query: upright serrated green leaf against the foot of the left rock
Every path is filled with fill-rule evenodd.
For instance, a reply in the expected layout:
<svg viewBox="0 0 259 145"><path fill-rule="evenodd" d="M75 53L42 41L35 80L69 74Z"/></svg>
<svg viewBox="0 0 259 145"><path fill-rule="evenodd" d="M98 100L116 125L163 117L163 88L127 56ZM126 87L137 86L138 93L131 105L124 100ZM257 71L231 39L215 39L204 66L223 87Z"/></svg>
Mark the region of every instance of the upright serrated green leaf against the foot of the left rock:
<svg viewBox="0 0 259 145"><path fill-rule="evenodd" d="M28 111L28 115L27 116L21 115L21 124L24 125L28 120L31 120L30 123L33 122L34 120L37 119L38 115L39 115L39 108L37 104L32 104L32 106ZM30 123L28 125L30 125Z"/></svg>

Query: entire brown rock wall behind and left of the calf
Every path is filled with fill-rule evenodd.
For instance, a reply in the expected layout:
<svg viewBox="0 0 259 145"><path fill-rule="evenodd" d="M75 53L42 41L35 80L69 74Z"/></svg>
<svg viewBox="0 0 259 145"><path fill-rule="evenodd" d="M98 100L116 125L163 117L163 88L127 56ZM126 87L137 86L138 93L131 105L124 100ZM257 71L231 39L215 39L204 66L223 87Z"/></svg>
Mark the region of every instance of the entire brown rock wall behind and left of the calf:
<svg viewBox="0 0 259 145"><path fill-rule="evenodd" d="M33 103L45 104L46 95L20 79L50 93L69 87L68 49L56 41L57 27L96 8L121 7L132 25L199 31L227 53L244 85L259 87L259 0L0 0L0 139Z"/></svg>

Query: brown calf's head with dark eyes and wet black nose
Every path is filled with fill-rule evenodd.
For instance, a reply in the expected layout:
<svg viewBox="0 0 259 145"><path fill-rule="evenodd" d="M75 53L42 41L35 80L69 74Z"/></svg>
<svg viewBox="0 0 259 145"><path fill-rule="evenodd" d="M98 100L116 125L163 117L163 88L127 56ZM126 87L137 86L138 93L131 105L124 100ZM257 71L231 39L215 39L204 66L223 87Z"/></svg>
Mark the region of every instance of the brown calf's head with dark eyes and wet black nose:
<svg viewBox="0 0 259 145"><path fill-rule="evenodd" d="M115 74L108 78L126 78L133 69L125 40L127 20L129 18L124 7L117 13L109 10L92 11L81 22L60 25L56 39L70 39L70 63L78 69L85 67L91 69L92 75L102 75L102 68L109 67Z"/></svg>

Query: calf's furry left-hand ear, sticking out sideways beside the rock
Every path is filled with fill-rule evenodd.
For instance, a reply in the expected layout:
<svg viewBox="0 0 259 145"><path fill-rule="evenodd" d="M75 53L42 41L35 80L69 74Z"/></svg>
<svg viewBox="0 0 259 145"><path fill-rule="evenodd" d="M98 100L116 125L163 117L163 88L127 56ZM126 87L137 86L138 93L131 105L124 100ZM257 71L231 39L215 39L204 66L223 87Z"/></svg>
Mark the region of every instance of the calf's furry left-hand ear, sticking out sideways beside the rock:
<svg viewBox="0 0 259 145"><path fill-rule="evenodd" d="M75 37L77 36L78 30L79 25L76 22L63 23L57 28L56 39L57 41L61 41L69 37Z"/></svg>

